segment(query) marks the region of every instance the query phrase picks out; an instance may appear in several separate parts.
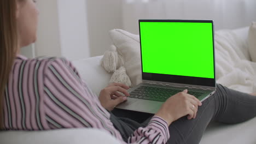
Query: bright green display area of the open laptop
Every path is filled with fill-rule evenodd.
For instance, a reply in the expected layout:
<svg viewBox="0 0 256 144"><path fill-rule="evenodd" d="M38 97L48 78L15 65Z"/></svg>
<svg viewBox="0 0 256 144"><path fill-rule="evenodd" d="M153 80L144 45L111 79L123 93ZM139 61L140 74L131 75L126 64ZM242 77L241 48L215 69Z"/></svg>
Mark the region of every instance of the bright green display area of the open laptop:
<svg viewBox="0 0 256 144"><path fill-rule="evenodd" d="M140 22L144 73L214 79L212 23Z"/></svg>

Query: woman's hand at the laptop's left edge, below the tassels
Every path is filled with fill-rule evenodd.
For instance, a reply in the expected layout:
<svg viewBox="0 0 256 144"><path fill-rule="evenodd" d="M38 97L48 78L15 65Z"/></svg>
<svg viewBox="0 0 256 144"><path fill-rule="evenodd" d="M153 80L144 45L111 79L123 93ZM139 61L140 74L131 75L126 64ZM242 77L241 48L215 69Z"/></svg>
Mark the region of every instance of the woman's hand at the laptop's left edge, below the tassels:
<svg viewBox="0 0 256 144"><path fill-rule="evenodd" d="M127 92L127 89L129 89L129 87L123 83L110 83L106 88L101 90L98 99L105 109L112 111L115 106L127 100L127 97L120 93L123 93L126 96L130 96L130 94Z"/></svg>

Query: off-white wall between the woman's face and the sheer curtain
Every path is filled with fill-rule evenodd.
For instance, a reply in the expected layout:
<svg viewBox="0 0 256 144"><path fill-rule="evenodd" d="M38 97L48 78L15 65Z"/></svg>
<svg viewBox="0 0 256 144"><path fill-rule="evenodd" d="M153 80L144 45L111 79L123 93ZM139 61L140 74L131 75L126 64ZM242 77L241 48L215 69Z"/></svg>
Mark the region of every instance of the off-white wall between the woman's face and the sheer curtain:
<svg viewBox="0 0 256 144"><path fill-rule="evenodd" d="M108 31L122 26L120 0L43 0L38 7L36 56L103 55L112 44Z"/></svg>

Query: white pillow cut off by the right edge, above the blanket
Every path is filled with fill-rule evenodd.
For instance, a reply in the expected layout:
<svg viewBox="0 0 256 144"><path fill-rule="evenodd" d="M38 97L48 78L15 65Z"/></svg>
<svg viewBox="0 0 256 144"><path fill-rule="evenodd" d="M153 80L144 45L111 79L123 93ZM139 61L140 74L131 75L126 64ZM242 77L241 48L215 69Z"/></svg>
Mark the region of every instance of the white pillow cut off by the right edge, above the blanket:
<svg viewBox="0 0 256 144"><path fill-rule="evenodd" d="M252 22L248 35L249 53L253 62L256 62L256 22Z"/></svg>

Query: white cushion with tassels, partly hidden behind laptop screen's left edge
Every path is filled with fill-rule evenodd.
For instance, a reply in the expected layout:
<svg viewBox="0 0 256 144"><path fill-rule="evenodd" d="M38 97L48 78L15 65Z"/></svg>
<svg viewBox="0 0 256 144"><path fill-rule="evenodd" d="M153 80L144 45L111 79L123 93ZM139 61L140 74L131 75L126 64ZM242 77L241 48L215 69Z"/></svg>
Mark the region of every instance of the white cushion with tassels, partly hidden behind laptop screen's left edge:
<svg viewBox="0 0 256 144"><path fill-rule="evenodd" d="M109 31L109 35L117 47L118 54L124 58L124 67L130 77L131 86L138 85L142 82L139 35L122 29L113 29Z"/></svg>

